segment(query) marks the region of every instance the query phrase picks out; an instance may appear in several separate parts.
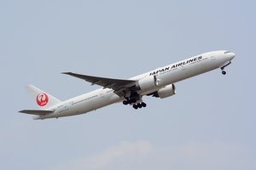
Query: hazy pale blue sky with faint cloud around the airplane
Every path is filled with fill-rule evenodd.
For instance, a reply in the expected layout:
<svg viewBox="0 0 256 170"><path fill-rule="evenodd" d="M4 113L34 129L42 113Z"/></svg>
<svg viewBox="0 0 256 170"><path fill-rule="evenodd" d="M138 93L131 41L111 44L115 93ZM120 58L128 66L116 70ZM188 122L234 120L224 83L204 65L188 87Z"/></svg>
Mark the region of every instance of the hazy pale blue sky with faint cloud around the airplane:
<svg viewBox="0 0 256 170"><path fill-rule="evenodd" d="M0 169L256 168L254 1L0 1ZM32 121L24 86L61 100L211 50L232 65L177 82L147 108L122 104Z"/></svg>

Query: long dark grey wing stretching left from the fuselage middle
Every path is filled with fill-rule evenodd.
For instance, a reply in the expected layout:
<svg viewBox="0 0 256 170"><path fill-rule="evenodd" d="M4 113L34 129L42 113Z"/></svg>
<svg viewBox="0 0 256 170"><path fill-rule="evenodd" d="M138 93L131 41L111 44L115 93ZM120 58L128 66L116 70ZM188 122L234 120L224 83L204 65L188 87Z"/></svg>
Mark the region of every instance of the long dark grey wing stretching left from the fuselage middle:
<svg viewBox="0 0 256 170"><path fill-rule="evenodd" d="M62 72L62 74L67 74L72 77L78 77L86 82L91 82L91 85L97 84L103 88L112 88L115 94L122 95L122 91L125 89L134 88L137 81L134 80L122 80L122 79L113 79L106 77L92 77L88 75L76 74L73 72Z"/></svg>

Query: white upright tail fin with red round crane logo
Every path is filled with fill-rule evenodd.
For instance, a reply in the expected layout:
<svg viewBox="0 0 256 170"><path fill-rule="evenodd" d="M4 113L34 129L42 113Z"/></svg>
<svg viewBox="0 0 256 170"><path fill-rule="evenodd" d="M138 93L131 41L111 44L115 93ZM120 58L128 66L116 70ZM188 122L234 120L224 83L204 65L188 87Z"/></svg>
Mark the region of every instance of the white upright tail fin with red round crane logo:
<svg viewBox="0 0 256 170"><path fill-rule="evenodd" d="M49 107L61 103L60 99L56 99L52 95L42 91L41 89L28 85L26 86L26 90L28 93L32 94L32 98L34 99L36 105L40 108L40 110L47 110Z"/></svg>

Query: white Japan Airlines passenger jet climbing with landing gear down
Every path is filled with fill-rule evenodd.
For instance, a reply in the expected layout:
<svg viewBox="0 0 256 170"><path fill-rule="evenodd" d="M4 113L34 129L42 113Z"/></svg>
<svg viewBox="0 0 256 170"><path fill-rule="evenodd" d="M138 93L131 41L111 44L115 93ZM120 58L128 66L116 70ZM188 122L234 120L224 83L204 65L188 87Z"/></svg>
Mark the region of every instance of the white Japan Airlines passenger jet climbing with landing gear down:
<svg viewBox="0 0 256 170"><path fill-rule="evenodd" d="M231 64L231 60L235 56L236 54L228 50L207 52L130 79L92 77L73 72L62 72L62 74L80 78L90 82L91 85L96 84L102 86L102 88L61 101L33 85L28 85L26 89L32 94L39 109L19 112L35 115L34 120L43 120L80 115L119 102L124 105L131 105L137 110L147 106L143 102L143 96L145 95L165 99L176 94L175 82L218 68L225 75L224 68Z"/></svg>

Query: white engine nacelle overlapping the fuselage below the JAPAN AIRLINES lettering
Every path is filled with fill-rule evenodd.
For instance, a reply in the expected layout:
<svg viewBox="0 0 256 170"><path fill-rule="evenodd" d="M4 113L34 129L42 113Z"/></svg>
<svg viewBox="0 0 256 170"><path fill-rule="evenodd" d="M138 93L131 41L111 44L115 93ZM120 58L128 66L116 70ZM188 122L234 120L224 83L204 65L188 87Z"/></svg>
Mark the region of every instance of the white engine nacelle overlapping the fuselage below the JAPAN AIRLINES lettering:
<svg viewBox="0 0 256 170"><path fill-rule="evenodd" d="M137 88L142 91L147 91L151 88L156 88L158 86L158 81L155 76L144 77L137 82Z"/></svg>

